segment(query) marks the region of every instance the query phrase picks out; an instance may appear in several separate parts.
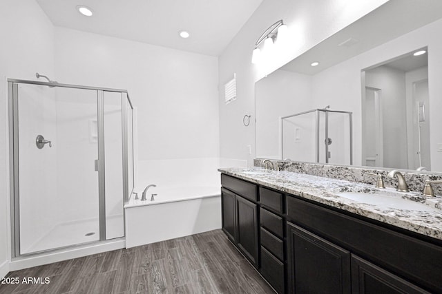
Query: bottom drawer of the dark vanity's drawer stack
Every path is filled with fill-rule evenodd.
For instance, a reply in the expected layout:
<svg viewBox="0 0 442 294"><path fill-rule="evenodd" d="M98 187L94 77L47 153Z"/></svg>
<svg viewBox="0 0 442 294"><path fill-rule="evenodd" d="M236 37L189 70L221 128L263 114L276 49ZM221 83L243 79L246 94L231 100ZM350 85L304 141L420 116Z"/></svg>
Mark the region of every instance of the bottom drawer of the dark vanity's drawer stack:
<svg viewBox="0 0 442 294"><path fill-rule="evenodd" d="M261 247L261 274L278 293L284 293L284 264Z"/></svg>

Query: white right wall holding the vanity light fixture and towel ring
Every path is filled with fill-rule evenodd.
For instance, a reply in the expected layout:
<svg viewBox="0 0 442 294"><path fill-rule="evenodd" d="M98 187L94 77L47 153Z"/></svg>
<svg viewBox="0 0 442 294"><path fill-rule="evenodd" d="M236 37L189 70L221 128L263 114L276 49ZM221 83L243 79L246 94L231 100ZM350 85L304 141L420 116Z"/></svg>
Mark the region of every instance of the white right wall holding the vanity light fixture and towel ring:
<svg viewBox="0 0 442 294"><path fill-rule="evenodd" d="M387 1L262 1L219 57L220 87L236 73L238 96L236 101L225 105L224 93L220 91L220 156L247 159L249 165L253 165L255 154L249 154L248 145L255 146L255 125L252 117L249 127L244 127L242 117L244 114L253 114L254 83L259 78L385 2ZM274 58L264 67L251 64L251 52L256 40L278 19L283 19L289 26L291 41L284 50L274 54Z"/></svg>

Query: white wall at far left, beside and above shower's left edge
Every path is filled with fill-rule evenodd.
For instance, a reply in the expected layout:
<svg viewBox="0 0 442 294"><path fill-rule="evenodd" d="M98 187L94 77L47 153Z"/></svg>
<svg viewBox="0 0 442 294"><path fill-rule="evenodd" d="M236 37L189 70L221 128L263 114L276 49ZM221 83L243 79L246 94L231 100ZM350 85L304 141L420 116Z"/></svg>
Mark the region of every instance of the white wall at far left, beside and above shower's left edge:
<svg viewBox="0 0 442 294"><path fill-rule="evenodd" d="M0 1L0 276L10 258L9 235L9 154L6 151L6 83L4 78L34 79L35 72L54 75L52 23L33 0Z"/></svg>

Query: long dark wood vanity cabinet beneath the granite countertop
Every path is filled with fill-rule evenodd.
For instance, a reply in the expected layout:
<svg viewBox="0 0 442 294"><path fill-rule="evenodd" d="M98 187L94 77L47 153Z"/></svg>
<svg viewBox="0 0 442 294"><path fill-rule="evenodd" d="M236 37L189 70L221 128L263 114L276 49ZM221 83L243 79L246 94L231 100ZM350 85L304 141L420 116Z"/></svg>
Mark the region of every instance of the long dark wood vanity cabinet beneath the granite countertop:
<svg viewBox="0 0 442 294"><path fill-rule="evenodd" d="M221 178L222 230L278 293L442 293L441 241Z"/></svg>

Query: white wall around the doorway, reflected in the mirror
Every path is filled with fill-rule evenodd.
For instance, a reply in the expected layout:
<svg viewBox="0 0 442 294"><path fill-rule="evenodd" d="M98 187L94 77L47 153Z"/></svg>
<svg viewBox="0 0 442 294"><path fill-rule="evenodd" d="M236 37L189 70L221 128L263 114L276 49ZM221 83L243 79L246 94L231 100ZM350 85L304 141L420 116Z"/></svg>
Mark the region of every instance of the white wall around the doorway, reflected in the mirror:
<svg viewBox="0 0 442 294"><path fill-rule="evenodd" d="M352 111L354 114L354 164L362 162L362 120L361 120L361 70L397 56L428 46L428 76L430 96L430 152L432 170L442 171L442 153L437 152L437 144L442 143L442 134L437 126L442 125L438 114L442 109L442 20L400 36L352 59L334 65L313 78L313 100L318 104L331 104L336 108ZM335 107L334 107L335 108ZM434 127L431 127L434 126Z"/></svg>

